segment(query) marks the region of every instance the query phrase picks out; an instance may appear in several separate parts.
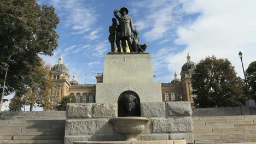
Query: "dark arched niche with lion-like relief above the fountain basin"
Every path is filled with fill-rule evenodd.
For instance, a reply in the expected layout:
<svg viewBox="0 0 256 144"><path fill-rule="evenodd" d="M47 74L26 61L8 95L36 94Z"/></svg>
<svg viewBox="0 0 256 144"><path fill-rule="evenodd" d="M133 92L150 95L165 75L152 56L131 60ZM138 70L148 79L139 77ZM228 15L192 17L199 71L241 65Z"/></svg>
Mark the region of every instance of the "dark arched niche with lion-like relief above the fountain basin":
<svg viewBox="0 0 256 144"><path fill-rule="evenodd" d="M141 116L141 102L138 94L125 91L118 98L118 117Z"/></svg>

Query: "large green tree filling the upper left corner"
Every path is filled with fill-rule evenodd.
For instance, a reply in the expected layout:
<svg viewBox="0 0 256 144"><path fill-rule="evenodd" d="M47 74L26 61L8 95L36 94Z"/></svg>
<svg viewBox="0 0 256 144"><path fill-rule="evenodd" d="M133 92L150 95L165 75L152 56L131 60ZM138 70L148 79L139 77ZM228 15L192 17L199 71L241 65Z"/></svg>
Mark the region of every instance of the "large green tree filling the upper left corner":
<svg viewBox="0 0 256 144"><path fill-rule="evenodd" d="M40 6L35 0L0 1L0 80L8 67L4 95L26 89L27 77L40 65L39 55L53 55L58 23L52 6Z"/></svg>

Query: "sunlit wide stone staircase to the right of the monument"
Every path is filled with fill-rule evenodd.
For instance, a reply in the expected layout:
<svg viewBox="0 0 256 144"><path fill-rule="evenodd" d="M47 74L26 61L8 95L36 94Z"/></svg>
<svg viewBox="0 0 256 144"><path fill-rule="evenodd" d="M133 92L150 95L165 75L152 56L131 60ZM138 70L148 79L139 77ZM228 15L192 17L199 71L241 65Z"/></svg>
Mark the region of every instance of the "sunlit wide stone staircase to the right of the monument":
<svg viewBox="0 0 256 144"><path fill-rule="evenodd" d="M255 110L240 107L197 110L193 110L195 143L256 144Z"/></svg>

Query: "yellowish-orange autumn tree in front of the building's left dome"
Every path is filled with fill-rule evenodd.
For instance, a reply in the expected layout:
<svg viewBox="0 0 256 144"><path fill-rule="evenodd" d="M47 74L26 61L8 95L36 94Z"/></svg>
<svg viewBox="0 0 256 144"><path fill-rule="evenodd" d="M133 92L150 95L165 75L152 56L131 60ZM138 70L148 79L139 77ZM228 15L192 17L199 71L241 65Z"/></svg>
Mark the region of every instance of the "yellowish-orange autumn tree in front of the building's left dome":
<svg viewBox="0 0 256 144"><path fill-rule="evenodd" d="M30 111L33 111L35 104L45 108L50 106L50 91L54 87L50 74L50 65L45 65L42 61L26 77L25 83L27 85L24 100L27 105L30 105Z"/></svg>

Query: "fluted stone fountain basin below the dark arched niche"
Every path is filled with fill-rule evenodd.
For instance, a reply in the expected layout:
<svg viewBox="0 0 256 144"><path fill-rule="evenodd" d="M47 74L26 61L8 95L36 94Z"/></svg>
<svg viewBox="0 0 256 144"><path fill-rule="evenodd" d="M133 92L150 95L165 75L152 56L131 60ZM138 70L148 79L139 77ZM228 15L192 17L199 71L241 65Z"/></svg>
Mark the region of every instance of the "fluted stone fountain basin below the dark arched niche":
<svg viewBox="0 0 256 144"><path fill-rule="evenodd" d="M114 131L119 134L139 134L149 121L147 117L117 117L109 119L114 125Z"/></svg>

